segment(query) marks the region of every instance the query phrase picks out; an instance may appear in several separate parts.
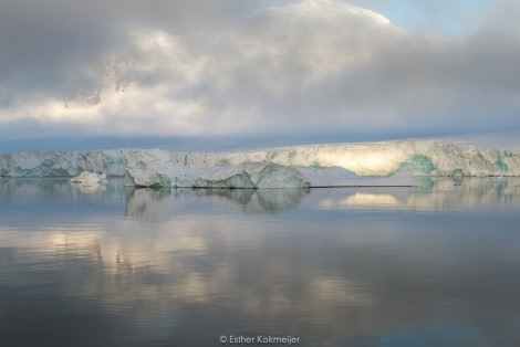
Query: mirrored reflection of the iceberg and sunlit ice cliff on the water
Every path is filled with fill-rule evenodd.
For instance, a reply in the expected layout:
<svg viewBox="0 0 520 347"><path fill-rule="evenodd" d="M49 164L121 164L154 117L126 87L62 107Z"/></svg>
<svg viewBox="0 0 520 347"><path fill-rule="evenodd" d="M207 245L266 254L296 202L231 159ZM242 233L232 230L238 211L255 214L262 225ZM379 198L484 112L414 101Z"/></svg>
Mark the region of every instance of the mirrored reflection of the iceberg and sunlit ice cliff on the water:
<svg viewBox="0 0 520 347"><path fill-rule="evenodd" d="M470 209L520 201L520 179L427 179L407 187L334 189L135 189L126 188L126 215L164 221L197 202L228 207L243 213L274 213L305 208L375 208L417 211ZM425 189L427 187L427 189ZM197 198L194 200L193 198Z"/></svg>

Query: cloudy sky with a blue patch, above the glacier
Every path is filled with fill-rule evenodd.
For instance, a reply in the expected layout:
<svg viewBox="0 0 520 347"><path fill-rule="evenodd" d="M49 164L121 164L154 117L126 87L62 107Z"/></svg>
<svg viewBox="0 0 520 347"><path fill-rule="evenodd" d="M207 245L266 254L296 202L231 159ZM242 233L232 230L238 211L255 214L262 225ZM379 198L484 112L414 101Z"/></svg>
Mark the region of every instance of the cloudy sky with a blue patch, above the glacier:
<svg viewBox="0 0 520 347"><path fill-rule="evenodd" d="M520 129L519 15L513 0L0 0L0 147Z"/></svg>

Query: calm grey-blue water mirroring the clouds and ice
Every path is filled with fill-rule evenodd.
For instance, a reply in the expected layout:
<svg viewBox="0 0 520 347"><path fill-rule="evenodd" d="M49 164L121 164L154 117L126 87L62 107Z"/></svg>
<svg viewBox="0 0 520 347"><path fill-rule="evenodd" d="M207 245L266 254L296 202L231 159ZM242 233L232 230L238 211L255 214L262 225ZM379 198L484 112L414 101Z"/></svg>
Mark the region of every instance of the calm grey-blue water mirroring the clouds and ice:
<svg viewBox="0 0 520 347"><path fill-rule="evenodd" d="M519 225L519 180L154 191L2 178L0 346L520 346Z"/></svg>

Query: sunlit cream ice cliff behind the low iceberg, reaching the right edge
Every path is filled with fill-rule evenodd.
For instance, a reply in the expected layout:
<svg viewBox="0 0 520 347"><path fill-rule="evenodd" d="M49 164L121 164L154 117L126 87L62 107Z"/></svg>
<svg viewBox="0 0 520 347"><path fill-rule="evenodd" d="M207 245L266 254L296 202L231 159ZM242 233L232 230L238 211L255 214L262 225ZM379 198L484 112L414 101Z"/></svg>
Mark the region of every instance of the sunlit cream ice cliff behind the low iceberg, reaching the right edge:
<svg viewBox="0 0 520 347"><path fill-rule="evenodd" d="M479 150L445 141L417 140L353 145L316 145L230 154L171 154L193 169L270 161L301 167L340 167L357 176L388 176L406 169L414 176L520 176L520 154Z"/></svg>

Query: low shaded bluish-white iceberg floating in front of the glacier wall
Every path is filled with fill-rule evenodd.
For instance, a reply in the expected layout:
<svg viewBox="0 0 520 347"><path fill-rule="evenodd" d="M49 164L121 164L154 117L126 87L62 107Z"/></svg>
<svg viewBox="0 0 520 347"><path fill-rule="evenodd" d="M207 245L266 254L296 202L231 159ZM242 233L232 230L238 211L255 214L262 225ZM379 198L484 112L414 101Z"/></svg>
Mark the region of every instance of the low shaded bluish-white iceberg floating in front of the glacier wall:
<svg viewBox="0 0 520 347"><path fill-rule="evenodd" d="M171 158L174 157L174 159ZM125 186L173 188L310 188L345 186L415 186L404 170L383 177L360 177L344 168L305 168L271 161L193 169L174 161L165 150L144 150L127 158Z"/></svg>

